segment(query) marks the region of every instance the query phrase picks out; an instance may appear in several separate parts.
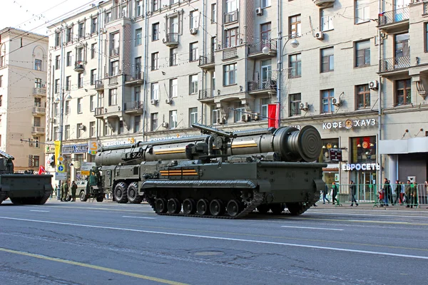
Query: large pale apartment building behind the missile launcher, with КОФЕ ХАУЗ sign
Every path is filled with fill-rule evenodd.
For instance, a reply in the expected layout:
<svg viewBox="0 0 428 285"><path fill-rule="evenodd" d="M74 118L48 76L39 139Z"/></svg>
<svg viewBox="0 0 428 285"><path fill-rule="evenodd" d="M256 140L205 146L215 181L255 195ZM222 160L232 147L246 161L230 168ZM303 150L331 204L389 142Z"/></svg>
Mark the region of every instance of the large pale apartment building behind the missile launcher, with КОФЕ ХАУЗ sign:
<svg viewBox="0 0 428 285"><path fill-rule="evenodd" d="M234 131L265 128L269 105L277 104L281 125L320 130L327 183L379 183L381 169L394 176L391 157L397 154L381 156L377 150L380 141L397 139L394 122L407 122L412 134L424 122L419 119L426 100L418 90L428 61L425 5L297 2L106 1L56 24L52 32L62 24L63 38L70 27L77 33L83 26L81 34L88 33L66 41L63 54L92 55L98 44L83 69L72 66L63 76L83 80L81 88L70 90L68 104L78 109L81 98L83 110L64 113L64 146L197 135L192 123ZM93 19L99 33L89 28ZM412 53L410 35L418 38ZM77 53L78 45L86 47L83 53ZM51 48L51 61L60 55L58 46ZM403 55L417 56L418 64L402 63ZM384 70L387 63L392 70ZM82 133L79 124L86 127ZM330 148L341 148L344 162L333 162Z"/></svg>

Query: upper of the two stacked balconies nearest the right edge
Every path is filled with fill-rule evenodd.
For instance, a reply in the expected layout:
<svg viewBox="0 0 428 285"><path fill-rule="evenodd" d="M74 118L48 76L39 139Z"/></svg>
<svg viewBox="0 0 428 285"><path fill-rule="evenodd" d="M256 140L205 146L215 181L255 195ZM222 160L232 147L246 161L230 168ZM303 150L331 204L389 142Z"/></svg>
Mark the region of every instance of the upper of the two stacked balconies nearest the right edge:
<svg viewBox="0 0 428 285"><path fill-rule="evenodd" d="M409 29L409 7L395 9L379 14L378 28L386 33L406 31Z"/></svg>

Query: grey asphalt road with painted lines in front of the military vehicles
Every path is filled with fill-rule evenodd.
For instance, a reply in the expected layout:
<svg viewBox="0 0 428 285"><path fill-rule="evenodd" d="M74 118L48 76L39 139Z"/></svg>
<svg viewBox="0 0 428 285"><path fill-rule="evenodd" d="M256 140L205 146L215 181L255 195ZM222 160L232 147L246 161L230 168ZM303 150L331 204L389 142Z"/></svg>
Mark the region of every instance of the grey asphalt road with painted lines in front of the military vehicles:
<svg viewBox="0 0 428 285"><path fill-rule="evenodd" d="M157 216L146 204L0 205L1 284L427 284L428 212Z"/></svg>

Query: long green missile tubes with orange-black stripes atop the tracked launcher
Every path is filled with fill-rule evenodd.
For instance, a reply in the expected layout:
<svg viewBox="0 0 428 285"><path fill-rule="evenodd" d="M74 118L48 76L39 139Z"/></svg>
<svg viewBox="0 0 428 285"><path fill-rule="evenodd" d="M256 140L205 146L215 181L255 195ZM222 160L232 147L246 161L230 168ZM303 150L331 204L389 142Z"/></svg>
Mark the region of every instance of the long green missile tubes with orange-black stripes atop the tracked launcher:
<svg viewBox="0 0 428 285"><path fill-rule="evenodd" d="M217 139L216 139L217 138ZM220 148L223 140L216 135L200 135L190 138L136 142L135 144L102 147L96 155L96 165L136 165L143 161L193 160L192 147L206 142L208 152ZM313 162L321 152L320 133L312 126L302 130L293 127L243 131L229 138L227 155L253 155L276 152L280 160L287 162Z"/></svg>

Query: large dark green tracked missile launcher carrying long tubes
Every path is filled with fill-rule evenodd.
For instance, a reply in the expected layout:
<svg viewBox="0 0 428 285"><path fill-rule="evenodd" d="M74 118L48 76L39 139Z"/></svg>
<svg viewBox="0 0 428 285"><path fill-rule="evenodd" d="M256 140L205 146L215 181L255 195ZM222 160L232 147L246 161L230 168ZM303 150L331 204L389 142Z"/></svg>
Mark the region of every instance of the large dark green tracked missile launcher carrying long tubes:
<svg viewBox="0 0 428 285"><path fill-rule="evenodd" d="M143 197L158 214L236 219L297 215L324 190L320 133L292 127L228 133L193 124L203 135L103 147L96 155L103 187L116 202Z"/></svg>

